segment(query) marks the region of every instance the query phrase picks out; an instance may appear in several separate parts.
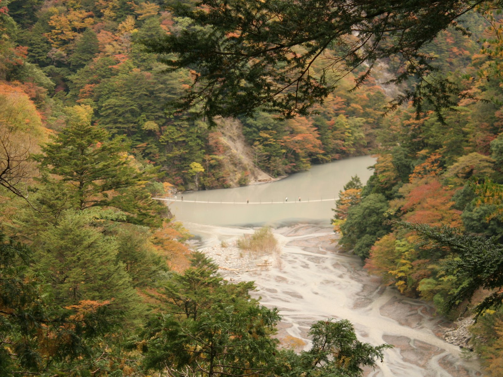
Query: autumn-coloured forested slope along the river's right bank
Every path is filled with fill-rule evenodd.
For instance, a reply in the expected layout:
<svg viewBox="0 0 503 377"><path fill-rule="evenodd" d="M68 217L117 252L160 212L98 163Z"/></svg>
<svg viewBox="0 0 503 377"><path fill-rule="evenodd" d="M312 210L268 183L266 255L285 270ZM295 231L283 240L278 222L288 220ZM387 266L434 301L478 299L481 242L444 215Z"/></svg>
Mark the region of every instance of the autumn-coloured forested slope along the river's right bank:
<svg viewBox="0 0 503 377"><path fill-rule="evenodd" d="M358 177L346 184L333 224L343 248L384 284L432 301L452 319L476 314L471 347L495 377L503 373L503 90L490 48L498 40L477 17L466 21L470 38L444 32L427 47L438 54L437 74L476 99L458 99L442 120L433 106L417 117L411 103L389 114L378 132L373 176L366 185Z"/></svg>

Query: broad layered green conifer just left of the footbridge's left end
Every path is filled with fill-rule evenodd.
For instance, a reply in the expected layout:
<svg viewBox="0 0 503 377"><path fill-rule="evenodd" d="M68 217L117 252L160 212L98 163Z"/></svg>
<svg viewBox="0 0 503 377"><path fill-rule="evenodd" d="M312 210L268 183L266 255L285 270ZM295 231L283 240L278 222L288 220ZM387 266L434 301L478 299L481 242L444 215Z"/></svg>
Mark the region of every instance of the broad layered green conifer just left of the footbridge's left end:
<svg viewBox="0 0 503 377"><path fill-rule="evenodd" d="M138 166L129 157L123 137L110 139L106 130L91 125L90 110L68 109L66 128L36 157L41 167L67 182L73 208L114 207L129 215L130 222L159 226L157 212L163 207L144 189L144 182L155 177L154 169ZM131 202L138 196L141 202Z"/></svg>

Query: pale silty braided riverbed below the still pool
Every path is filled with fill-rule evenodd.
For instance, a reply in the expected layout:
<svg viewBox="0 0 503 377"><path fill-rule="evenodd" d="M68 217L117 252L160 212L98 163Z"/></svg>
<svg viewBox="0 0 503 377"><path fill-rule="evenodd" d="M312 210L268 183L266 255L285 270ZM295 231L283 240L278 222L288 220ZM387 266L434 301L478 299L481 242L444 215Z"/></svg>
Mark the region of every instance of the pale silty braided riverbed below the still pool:
<svg viewBox="0 0 503 377"><path fill-rule="evenodd" d="M260 256L236 246L236 239L253 229L211 228L213 237L203 240L201 251L216 261L225 278L256 281L261 303L278 307L283 315L276 336L285 346L306 348L315 320L347 318L361 340L395 346L386 351L379 368L366 371L368 377L481 375L475 358L463 359L460 348L443 339L451 322L435 316L428 304L382 287L379 278L362 269L358 257L339 251L331 227L275 229L280 253Z"/></svg>

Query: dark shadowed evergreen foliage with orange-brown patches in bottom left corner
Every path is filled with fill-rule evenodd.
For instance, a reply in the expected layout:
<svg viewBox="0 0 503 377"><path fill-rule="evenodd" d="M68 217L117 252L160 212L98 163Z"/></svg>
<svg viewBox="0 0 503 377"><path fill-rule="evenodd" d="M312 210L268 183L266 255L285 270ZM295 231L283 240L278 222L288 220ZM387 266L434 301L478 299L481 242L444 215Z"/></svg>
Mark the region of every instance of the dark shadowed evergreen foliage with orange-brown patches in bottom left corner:
<svg viewBox="0 0 503 377"><path fill-rule="evenodd" d="M54 302L43 274L30 272L33 260L0 236L0 375L90 375L122 316L109 302Z"/></svg>

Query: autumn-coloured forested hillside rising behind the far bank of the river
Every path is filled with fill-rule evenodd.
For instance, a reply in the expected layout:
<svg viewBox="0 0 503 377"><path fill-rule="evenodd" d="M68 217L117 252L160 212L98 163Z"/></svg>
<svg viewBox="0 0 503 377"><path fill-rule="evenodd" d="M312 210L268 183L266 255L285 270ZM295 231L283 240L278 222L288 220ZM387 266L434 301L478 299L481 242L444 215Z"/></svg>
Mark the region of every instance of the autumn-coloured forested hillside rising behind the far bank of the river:
<svg viewBox="0 0 503 377"><path fill-rule="evenodd" d="M209 129L190 112L165 108L182 95L191 72L165 73L140 42L189 27L187 19L165 10L167 4L4 0L2 5L2 91L19 93L45 128L61 130L65 108L89 107L92 124L124 136L128 151L142 164L160 167L162 180L175 189L230 187L254 179L228 145L225 129ZM349 93L352 80L345 79L316 117L278 122L259 113L236 122L255 165L278 176L368 153L386 99L373 83Z"/></svg>

